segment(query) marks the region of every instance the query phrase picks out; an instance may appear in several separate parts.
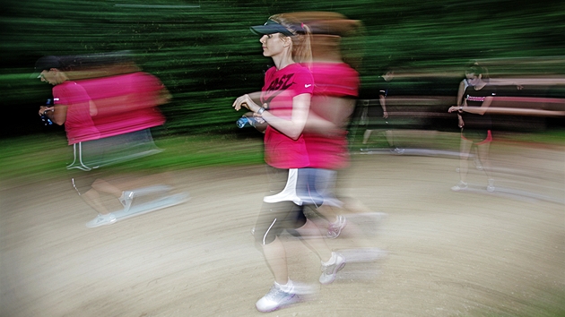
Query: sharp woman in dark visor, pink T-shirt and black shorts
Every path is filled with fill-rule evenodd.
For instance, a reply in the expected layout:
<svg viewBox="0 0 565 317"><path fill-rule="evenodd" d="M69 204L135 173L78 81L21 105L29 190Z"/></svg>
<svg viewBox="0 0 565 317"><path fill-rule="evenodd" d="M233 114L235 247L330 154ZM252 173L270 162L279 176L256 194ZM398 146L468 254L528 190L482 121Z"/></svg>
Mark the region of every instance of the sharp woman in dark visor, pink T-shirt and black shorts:
<svg viewBox="0 0 565 317"><path fill-rule="evenodd" d="M233 107L236 110L246 107L257 121L267 124L265 162L270 191L275 194L265 196L254 235L274 275L274 286L256 302L256 308L260 312L271 312L294 303L298 295L312 290L289 278L286 251L279 235L283 230L295 236L309 236L312 232L319 235L316 225L299 208L301 201L297 195L300 168L309 166L302 131L309 114L314 81L309 69L299 64L308 64L311 58L307 26L287 14L277 14L251 30L262 36L263 55L273 59L274 67L265 73L261 92L240 96ZM322 239L309 240L308 244L320 259L327 260L328 266L341 265ZM334 278L335 274L323 273L320 282L331 283Z"/></svg>

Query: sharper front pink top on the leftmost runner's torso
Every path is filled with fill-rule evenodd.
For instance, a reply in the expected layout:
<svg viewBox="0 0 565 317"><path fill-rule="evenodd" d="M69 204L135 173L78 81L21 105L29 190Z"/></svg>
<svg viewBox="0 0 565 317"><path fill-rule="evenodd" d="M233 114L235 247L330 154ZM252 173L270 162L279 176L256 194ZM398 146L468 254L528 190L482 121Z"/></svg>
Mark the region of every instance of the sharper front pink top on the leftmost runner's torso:
<svg viewBox="0 0 565 317"><path fill-rule="evenodd" d="M99 130L92 121L90 100L84 88L74 81L65 81L53 87L56 105L65 105L65 132L69 145L100 139Z"/></svg>

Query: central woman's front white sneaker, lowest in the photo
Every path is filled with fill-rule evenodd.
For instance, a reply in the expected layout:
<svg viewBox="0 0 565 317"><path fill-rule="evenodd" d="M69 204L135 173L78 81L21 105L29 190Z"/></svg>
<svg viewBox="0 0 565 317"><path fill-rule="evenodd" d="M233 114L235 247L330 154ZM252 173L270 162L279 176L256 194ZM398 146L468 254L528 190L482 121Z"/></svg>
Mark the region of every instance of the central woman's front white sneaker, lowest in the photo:
<svg viewBox="0 0 565 317"><path fill-rule="evenodd" d="M286 305L299 302L299 295L312 294L314 292L313 287L289 281L291 282L291 288L286 291L283 291L281 286L275 283L271 290L256 302L257 311L261 313L273 312Z"/></svg>

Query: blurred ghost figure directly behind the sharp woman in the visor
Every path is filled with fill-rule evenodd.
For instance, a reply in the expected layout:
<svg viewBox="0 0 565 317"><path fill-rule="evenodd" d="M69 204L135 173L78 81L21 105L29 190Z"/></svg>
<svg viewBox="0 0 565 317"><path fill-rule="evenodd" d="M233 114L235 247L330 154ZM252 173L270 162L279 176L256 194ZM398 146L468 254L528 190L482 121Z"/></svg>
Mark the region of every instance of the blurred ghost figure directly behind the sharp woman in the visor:
<svg viewBox="0 0 565 317"><path fill-rule="evenodd" d="M300 194L305 204L328 220L326 237L336 238L347 224L343 201L335 193L336 177L349 164L346 128L360 84L359 73L343 62L341 35L353 33L360 22L338 13L307 21L313 30L311 71L316 85L304 128L309 181Z"/></svg>

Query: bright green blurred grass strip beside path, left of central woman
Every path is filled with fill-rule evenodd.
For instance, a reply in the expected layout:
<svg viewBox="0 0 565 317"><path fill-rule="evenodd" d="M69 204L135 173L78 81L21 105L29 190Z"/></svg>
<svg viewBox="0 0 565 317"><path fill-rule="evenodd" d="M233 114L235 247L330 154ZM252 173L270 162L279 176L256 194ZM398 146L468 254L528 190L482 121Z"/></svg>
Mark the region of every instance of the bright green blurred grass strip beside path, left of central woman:
<svg viewBox="0 0 565 317"><path fill-rule="evenodd" d="M161 153L104 167L104 170L108 175L117 176L143 171L154 174L186 168L244 166L263 162L263 142L260 139L234 139L230 134L223 137L200 134L176 135L161 138L155 143L163 150ZM66 149L65 144L65 134L51 135L46 139L28 135L0 140L1 180L14 185L17 183L13 182L24 184L65 177L65 166L74 159L72 151Z"/></svg>

